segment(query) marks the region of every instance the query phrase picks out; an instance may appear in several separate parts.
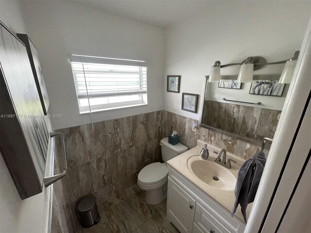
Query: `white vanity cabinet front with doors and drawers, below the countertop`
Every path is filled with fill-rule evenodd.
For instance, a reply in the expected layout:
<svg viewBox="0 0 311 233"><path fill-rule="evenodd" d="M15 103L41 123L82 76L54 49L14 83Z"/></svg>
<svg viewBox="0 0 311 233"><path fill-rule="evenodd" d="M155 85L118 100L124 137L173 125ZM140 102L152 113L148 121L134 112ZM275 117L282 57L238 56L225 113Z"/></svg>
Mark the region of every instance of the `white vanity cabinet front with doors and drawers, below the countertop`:
<svg viewBox="0 0 311 233"><path fill-rule="evenodd" d="M169 166L167 219L181 233L243 233L245 224Z"/></svg>

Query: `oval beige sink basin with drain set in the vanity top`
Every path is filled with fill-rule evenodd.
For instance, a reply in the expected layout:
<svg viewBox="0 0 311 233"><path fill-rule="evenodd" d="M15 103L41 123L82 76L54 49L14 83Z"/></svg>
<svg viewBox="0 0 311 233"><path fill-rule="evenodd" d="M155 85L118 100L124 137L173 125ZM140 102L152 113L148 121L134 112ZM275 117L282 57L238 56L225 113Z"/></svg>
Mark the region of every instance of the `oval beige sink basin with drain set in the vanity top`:
<svg viewBox="0 0 311 233"><path fill-rule="evenodd" d="M214 158L203 160L199 155L195 155L188 159L187 165L193 175L214 188L222 190L235 188L236 171L216 164Z"/></svg>

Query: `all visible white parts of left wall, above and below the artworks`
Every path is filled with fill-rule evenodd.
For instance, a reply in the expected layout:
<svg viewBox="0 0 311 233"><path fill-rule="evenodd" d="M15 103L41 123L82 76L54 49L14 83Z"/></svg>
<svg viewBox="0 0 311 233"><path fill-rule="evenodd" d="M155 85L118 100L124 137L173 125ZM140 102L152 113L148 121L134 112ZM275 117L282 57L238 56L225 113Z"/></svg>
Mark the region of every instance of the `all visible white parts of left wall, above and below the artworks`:
<svg viewBox="0 0 311 233"><path fill-rule="evenodd" d="M27 33L18 1L0 1L0 20L14 33ZM46 124L51 131L49 119L46 120ZM49 172L48 169L46 172ZM40 194L21 200L1 154L0 183L0 232L47 232L51 186L44 187Z"/></svg>

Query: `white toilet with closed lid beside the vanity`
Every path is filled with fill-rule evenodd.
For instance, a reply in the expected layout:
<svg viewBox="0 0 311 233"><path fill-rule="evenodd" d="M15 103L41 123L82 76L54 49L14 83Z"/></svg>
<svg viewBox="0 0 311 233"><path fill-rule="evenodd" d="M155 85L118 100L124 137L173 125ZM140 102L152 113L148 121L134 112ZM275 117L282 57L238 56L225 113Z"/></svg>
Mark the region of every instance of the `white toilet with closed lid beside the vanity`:
<svg viewBox="0 0 311 233"><path fill-rule="evenodd" d="M188 147L181 143L174 146L169 144L168 137L163 138L160 145L164 163L157 162L149 164L142 168L138 174L138 187L146 192L145 200L151 205L160 203L167 196L169 169L167 168L166 162L188 150Z"/></svg>

